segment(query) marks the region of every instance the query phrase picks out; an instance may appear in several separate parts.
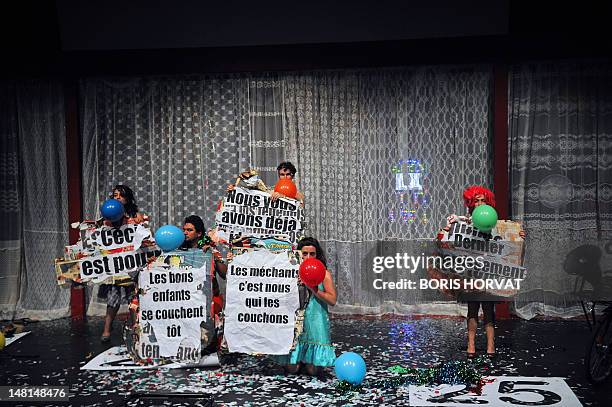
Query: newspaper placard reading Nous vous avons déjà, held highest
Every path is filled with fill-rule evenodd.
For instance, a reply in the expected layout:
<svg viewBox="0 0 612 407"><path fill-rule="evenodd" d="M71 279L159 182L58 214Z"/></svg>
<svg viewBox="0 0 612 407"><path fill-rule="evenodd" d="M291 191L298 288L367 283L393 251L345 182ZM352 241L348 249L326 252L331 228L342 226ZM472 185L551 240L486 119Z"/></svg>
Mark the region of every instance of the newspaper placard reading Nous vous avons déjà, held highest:
<svg viewBox="0 0 612 407"><path fill-rule="evenodd" d="M223 198L215 220L217 235L227 242L243 236L275 236L296 243L304 211L299 201L272 200L267 192L236 187Z"/></svg>

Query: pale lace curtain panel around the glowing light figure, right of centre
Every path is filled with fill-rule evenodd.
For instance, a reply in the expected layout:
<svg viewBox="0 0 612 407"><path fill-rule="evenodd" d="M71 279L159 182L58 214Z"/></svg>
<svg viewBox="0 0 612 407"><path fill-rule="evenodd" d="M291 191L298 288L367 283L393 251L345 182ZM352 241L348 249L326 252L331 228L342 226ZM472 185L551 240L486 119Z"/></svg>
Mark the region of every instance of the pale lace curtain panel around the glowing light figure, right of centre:
<svg viewBox="0 0 612 407"><path fill-rule="evenodd" d="M444 299L436 292L375 290L372 257L427 253L418 239L431 240L444 217L463 212L463 188L491 185L490 85L487 67L286 78L289 153L304 174L309 233L324 241L335 272L337 312L440 312L424 308ZM424 165L417 200L393 171L407 160ZM426 275L383 276L404 277ZM457 310L447 305L443 312Z"/></svg>

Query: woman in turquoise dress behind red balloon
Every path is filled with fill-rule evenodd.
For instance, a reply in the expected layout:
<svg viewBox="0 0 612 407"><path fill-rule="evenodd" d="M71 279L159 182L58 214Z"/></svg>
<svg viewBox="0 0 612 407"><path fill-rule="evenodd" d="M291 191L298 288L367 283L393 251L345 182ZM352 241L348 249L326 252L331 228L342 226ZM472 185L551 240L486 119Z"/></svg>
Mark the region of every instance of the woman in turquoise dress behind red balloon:
<svg viewBox="0 0 612 407"><path fill-rule="evenodd" d="M319 259L327 268L325 254L317 239L305 237L298 243L303 260L310 257ZM304 330L298 337L295 349L284 356L274 359L286 365L288 373L298 373L300 369L311 376L316 375L320 367L333 366L336 351L331 343L329 333L329 316L327 307L336 304L336 287L329 270L325 270L325 279L317 287L308 287L310 300L304 312Z"/></svg>

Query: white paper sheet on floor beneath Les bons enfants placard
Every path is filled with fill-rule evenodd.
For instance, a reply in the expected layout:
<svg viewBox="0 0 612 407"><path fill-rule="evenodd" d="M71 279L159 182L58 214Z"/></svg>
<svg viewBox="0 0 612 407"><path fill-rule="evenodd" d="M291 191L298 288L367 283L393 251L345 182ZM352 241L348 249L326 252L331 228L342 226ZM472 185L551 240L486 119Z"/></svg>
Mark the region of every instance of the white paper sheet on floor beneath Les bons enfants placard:
<svg viewBox="0 0 612 407"><path fill-rule="evenodd" d="M125 346L112 347L90 360L81 370L140 370L140 369L182 369L187 367L215 367L220 366L216 353L204 356L198 363L171 363L168 365L142 366L130 359Z"/></svg>

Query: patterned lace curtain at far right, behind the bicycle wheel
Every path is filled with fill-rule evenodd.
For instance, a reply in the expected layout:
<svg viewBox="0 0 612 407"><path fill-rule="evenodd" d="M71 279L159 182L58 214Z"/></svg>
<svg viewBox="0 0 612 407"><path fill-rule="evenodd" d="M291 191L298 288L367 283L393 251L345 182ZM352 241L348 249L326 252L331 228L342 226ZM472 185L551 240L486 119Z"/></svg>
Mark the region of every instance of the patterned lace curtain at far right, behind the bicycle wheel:
<svg viewBox="0 0 612 407"><path fill-rule="evenodd" d="M577 315L576 280L612 273L612 65L518 65L509 90L512 213L529 268L515 305L527 318Z"/></svg>

